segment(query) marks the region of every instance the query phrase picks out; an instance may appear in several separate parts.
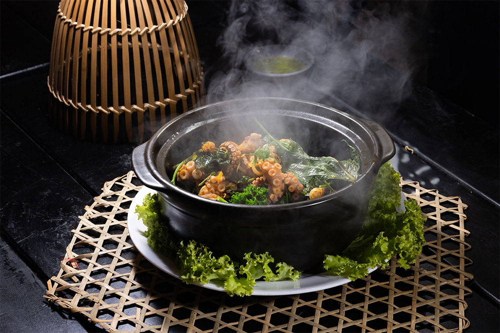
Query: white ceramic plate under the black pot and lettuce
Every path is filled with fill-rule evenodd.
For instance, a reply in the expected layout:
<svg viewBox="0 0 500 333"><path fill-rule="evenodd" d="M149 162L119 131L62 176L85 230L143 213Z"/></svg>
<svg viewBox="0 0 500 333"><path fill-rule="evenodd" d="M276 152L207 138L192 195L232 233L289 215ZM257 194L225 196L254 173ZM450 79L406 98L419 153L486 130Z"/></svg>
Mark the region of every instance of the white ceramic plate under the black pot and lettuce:
<svg viewBox="0 0 500 333"><path fill-rule="evenodd" d="M127 218L128 233L130 234L130 238L135 248L140 252L142 256L144 256L144 258L149 260L154 266L164 271L165 273L168 273L171 276L182 280L182 278L180 277L180 271L177 269L175 263L161 253L153 251L147 245L147 238L144 235L147 228L142 223L142 220L138 219L137 214L134 213L135 207L137 205L142 205L143 198L148 193L155 193L155 191L143 186L132 200L132 203L128 210ZM371 273L374 270L376 270L376 268L370 269L368 270L368 272ZM350 280L345 277L331 276L326 273L308 276L304 276L304 274L302 274L302 276L297 281L257 281L257 285L253 287L252 295L295 295L333 288L341 286L348 282L350 282ZM206 285L199 284L199 286L221 292L224 291L224 287L221 284L212 282L209 282Z"/></svg>

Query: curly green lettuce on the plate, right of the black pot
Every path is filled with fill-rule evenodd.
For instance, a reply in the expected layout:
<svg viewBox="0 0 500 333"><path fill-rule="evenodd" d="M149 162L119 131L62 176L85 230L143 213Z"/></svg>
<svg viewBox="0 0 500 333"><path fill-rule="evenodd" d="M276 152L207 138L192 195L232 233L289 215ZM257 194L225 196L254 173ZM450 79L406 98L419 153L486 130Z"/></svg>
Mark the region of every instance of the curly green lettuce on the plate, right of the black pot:
<svg viewBox="0 0 500 333"><path fill-rule="evenodd" d="M337 276L347 276L350 280L362 278L368 269L387 267L388 260L398 255L399 266L405 269L415 262L422 251L423 223L418 203L409 198L404 202L405 210L396 211L400 206L400 175L390 163L379 170L370 191L367 215L356 239L339 255L325 255L324 269Z"/></svg>

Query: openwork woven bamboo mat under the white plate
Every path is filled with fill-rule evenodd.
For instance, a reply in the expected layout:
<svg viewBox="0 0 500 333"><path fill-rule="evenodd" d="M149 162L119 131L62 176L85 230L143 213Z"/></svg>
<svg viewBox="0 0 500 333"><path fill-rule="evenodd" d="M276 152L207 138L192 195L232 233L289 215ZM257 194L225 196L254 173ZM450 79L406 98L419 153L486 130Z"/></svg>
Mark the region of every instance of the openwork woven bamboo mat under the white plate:
<svg viewBox="0 0 500 333"><path fill-rule="evenodd" d="M48 300L109 332L461 332L469 325L467 206L458 197L402 182L427 216L427 243L408 270L391 260L340 287L240 298L186 285L138 254L126 217L140 188L129 172L85 207L59 273L47 282Z"/></svg>

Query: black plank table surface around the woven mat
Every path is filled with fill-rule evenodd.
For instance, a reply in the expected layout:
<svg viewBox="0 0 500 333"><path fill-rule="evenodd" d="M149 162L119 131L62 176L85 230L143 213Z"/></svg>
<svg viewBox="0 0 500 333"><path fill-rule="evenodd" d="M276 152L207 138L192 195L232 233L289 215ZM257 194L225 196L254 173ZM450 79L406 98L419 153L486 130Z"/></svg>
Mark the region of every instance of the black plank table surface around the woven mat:
<svg viewBox="0 0 500 333"><path fill-rule="evenodd" d="M47 116L46 79L55 15L43 18L23 12L17 3L0 3L0 332L103 332L42 296L46 281L59 270L84 206L100 194L104 182L131 170L130 153L137 143L82 141L54 127ZM192 7L210 3L219 5L196 1ZM55 13L57 2L46 1L44 6ZM213 47L220 26L210 25L215 30L211 32L203 23L213 16L194 15L193 11L206 66L214 62L214 55L204 50ZM466 256L473 264L467 271L474 279L466 283L473 291L465 299L467 332L498 332L498 123L486 122L417 83L412 94L384 117L333 95L317 101L380 122L394 139L392 162L403 179L459 196L468 206L465 228L471 249Z"/></svg>

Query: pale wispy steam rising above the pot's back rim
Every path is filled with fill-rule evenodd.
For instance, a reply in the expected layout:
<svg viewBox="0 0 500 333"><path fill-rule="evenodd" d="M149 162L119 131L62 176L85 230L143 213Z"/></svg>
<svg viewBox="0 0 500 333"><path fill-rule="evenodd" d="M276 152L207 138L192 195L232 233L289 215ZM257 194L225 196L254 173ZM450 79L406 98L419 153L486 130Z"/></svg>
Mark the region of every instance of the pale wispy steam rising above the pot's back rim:
<svg viewBox="0 0 500 333"><path fill-rule="evenodd" d="M397 106L421 63L415 47L426 2L411 2L233 0L218 39L228 68L211 76L207 102L253 96L320 101L334 95L376 114ZM314 66L285 83L255 79L245 57L266 44L302 47L314 56Z"/></svg>

